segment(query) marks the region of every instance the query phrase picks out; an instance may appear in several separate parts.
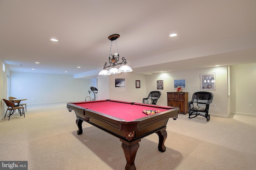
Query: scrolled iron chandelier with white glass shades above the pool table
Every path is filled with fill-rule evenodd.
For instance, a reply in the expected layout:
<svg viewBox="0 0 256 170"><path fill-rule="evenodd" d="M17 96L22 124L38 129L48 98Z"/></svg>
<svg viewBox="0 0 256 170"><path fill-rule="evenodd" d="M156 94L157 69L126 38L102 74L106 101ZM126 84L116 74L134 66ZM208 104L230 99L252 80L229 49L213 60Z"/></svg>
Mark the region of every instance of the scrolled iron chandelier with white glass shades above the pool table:
<svg viewBox="0 0 256 170"><path fill-rule="evenodd" d="M114 53L114 55L111 54L112 42L114 40L116 41L116 39L118 39L119 37L120 37L119 34L113 34L108 37L108 39L111 41L110 51L108 56L108 63L106 62L104 64L103 70L99 72L99 75L110 75L110 74L119 74L121 72L132 72L132 68L126 65L127 62L124 57L122 57L122 61L119 62L119 52L118 52L117 42L116 42L117 53ZM120 66L119 69L116 68L116 66L119 66L119 65L122 65L122 66ZM106 70L106 68L110 68L110 70Z"/></svg>

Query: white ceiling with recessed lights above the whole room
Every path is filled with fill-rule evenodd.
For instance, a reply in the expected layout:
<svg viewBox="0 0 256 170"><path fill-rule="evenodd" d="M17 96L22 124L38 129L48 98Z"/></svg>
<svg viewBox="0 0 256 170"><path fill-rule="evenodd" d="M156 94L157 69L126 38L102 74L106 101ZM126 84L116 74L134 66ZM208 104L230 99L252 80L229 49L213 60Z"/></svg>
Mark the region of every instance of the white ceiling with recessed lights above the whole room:
<svg viewBox="0 0 256 170"><path fill-rule="evenodd" d="M10 70L97 76L115 33L134 73L256 63L256 1L0 0Z"/></svg>

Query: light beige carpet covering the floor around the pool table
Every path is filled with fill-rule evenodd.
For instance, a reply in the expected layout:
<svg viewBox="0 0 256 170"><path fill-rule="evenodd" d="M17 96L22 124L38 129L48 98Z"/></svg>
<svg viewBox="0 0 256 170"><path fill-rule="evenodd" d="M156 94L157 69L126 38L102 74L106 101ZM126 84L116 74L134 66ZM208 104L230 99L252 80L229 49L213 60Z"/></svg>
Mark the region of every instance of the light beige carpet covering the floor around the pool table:
<svg viewBox="0 0 256 170"><path fill-rule="evenodd" d="M141 140L137 170L255 170L256 117L188 119L167 124L166 152L158 136ZM126 159L118 138L84 122L77 135L76 116L66 103L28 105L0 123L0 160L27 160L28 170L123 170Z"/></svg>

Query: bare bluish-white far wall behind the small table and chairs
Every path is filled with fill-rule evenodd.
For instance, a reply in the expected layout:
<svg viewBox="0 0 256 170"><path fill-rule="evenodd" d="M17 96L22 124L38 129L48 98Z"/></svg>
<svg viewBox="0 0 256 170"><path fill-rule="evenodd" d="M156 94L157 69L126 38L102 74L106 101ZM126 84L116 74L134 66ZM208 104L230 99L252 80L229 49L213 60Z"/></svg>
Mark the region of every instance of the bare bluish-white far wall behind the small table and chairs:
<svg viewBox="0 0 256 170"><path fill-rule="evenodd" d="M72 75L10 72L10 96L27 104L84 101L90 86L90 79Z"/></svg>

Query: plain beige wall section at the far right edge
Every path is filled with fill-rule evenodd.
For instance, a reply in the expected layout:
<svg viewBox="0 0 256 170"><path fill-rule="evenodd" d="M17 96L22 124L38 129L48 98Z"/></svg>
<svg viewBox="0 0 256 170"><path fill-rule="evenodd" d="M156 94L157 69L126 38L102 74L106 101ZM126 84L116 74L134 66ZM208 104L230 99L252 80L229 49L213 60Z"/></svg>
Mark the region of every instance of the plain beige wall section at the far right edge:
<svg viewBox="0 0 256 170"><path fill-rule="evenodd" d="M231 113L256 116L255 84L256 63L230 66Z"/></svg>

